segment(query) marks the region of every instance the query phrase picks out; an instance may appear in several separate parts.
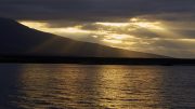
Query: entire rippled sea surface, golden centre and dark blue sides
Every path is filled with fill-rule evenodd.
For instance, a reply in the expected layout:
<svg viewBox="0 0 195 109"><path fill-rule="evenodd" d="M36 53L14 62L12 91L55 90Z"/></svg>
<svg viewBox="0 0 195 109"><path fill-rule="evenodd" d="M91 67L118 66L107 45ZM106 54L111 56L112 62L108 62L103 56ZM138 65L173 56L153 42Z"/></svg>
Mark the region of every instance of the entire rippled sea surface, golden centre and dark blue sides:
<svg viewBox="0 0 195 109"><path fill-rule="evenodd" d="M195 67L1 64L0 109L195 109Z"/></svg>

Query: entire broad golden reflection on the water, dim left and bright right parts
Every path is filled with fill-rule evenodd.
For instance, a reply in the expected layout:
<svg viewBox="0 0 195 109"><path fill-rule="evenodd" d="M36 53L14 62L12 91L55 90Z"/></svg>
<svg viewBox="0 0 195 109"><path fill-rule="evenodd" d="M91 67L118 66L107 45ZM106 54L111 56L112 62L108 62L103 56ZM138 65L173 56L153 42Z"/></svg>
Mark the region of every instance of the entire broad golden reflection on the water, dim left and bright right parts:
<svg viewBox="0 0 195 109"><path fill-rule="evenodd" d="M14 103L21 108L161 109L152 107L164 104L159 67L25 65L21 71L21 100Z"/></svg>

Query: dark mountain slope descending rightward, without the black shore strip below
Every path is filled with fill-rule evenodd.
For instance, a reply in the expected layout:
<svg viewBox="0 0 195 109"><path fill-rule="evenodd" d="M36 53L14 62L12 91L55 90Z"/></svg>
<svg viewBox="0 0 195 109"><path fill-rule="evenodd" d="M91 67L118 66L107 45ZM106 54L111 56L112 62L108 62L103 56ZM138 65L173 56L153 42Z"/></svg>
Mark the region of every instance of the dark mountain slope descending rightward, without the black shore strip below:
<svg viewBox="0 0 195 109"><path fill-rule="evenodd" d="M131 58L165 57L95 43L75 41L28 28L9 18L0 18L0 55Z"/></svg>

